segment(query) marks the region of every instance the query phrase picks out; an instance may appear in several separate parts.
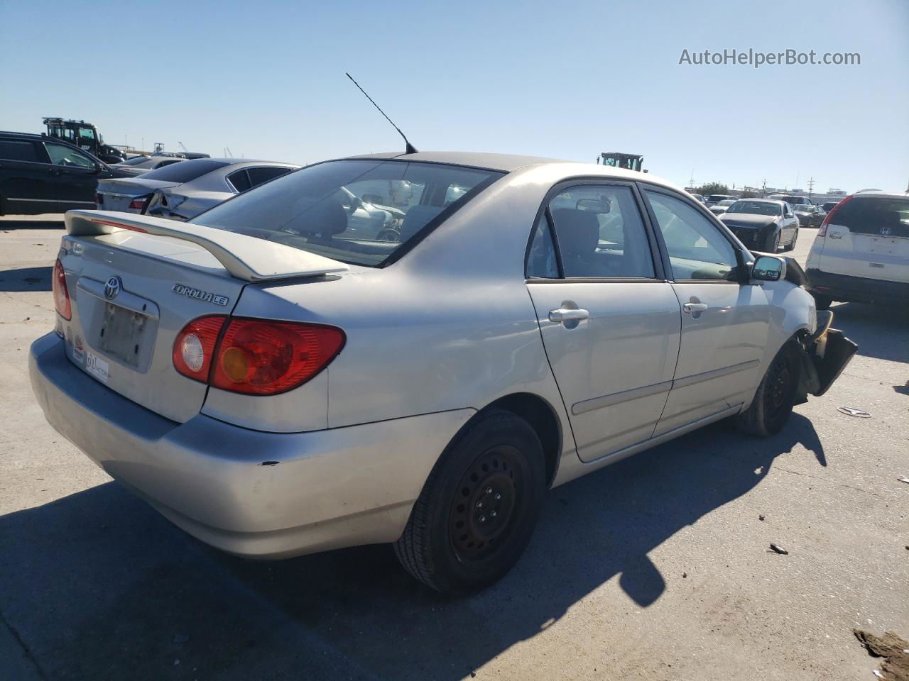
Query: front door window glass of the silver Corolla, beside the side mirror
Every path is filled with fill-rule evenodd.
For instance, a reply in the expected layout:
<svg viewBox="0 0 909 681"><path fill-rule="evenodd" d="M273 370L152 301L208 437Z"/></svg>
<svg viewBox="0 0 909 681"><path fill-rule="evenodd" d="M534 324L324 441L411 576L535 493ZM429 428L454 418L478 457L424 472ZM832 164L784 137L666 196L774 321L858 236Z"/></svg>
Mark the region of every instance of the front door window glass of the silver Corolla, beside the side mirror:
<svg viewBox="0 0 909 681"><path fill-rule="evenodd" d="M672 196L644 194L663 232L676 281L734 280L735 250L712 222Z"/></svg>

